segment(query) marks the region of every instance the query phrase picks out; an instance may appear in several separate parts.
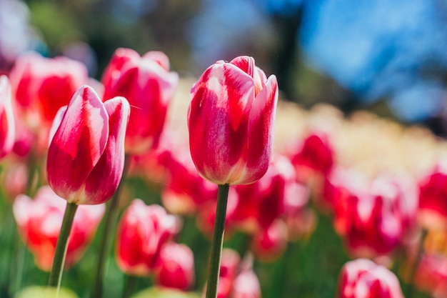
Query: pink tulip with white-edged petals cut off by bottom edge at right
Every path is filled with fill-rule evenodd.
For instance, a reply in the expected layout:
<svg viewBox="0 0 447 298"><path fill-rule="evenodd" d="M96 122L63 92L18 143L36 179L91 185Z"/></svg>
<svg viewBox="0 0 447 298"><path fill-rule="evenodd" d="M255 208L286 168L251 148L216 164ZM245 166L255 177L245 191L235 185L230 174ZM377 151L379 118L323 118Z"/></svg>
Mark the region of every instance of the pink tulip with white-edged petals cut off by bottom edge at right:
<svg viewBox="0 0 447 298"><path fill-rule="evenodd" d="M343 266L336 297L404 298L396 275L368 259L356 259Z"/></svg>

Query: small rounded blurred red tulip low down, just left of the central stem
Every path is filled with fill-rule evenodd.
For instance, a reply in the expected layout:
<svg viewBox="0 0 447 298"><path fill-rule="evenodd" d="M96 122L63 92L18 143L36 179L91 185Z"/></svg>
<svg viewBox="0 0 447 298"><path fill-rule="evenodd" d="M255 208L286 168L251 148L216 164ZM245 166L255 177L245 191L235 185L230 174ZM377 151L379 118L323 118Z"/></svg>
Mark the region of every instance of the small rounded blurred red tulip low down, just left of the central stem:
<svg viewBox="0 0 447 298"><path fill-rule="evenodd" d="M168 242L161 247L156 281L162 287L186 291L194 283L194 254L185 244Z"/></svg>

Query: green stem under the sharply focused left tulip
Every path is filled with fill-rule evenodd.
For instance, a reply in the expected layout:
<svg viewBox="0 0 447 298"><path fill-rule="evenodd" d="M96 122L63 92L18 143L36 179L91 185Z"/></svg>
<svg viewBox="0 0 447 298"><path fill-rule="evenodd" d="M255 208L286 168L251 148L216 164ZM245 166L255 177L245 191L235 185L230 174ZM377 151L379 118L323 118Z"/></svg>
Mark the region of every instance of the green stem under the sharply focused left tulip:
<svg viewBox="0 0 447 298"><path fill-rule="evenodd" d="M64 270L64 263L66 257L66 249L69 246L69 236L71 225L73 224L74 214L76 214L77 204L67 202L64 219L62 221L61 232L56 243L56 252L54 252L53 267L51 267L48 286L61 287L62 272Z"/></svg>

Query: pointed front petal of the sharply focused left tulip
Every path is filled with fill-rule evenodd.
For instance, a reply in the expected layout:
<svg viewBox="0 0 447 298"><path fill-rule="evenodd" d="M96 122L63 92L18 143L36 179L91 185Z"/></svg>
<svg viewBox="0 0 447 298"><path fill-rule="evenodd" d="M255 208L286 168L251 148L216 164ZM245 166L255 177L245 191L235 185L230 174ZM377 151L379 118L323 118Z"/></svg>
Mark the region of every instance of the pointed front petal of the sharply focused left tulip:
<svg viewBox="0 0 447 298"><path fill-rule="evenodd" d="M68 202L76 195L106 148L109 116L99 96L81 86L71 99L49 146L46 172L54 192Z"/></svg>

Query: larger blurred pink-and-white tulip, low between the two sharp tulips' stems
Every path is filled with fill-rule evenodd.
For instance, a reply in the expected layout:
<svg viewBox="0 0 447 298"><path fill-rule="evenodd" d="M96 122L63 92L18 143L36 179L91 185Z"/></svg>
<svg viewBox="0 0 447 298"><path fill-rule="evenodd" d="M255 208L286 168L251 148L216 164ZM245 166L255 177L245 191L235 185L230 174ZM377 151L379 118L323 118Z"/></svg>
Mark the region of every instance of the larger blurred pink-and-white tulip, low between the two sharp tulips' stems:
<svg viewBox="0 0 447 298"><path fill-rule="evenodd" d="M156 204L134 199L124 212L116 234L116 262L130 275L154 272L160 249L179 230L176 217Z"/></svg>

